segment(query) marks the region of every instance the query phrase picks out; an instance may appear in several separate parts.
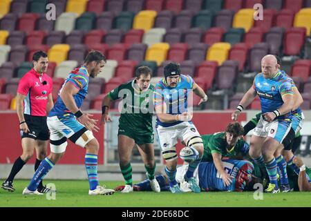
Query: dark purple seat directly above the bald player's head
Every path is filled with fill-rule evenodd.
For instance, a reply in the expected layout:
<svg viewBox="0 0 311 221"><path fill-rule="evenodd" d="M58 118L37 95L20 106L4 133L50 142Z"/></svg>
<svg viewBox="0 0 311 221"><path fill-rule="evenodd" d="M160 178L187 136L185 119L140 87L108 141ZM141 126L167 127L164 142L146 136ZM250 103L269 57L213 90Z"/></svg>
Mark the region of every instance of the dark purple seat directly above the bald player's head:
<svg viewBox="0 0 311 221"><path fill-rule="evenodd" d="M265 34L265 42L269 45L272 55L279 55L283 42L284 29L279 27L271 28Z"/></svg>

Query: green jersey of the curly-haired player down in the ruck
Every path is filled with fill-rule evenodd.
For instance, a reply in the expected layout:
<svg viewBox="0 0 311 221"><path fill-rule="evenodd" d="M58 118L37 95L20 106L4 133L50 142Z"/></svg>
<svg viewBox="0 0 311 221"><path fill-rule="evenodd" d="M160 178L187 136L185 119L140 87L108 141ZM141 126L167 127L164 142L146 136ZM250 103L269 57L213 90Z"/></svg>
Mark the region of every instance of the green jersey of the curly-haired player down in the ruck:
<svg viewBox="0 0 311 221"><path fill-rule="evenodd" d="M235 157L238 153L247 155L249 145L243 139L239 139L231 149L227 144L225 132L201 135L204 145L204 154L202 161L212 161L212 153L220 153L223 157Z"/></svg>

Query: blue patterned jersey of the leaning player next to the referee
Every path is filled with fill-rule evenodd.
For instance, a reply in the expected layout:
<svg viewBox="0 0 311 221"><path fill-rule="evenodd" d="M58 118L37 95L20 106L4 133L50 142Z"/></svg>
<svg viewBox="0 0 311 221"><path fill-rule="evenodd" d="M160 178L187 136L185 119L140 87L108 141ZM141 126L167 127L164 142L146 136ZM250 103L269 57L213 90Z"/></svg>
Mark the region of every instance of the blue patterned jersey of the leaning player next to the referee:
<svg viewBox="0 0 311 221"><path fill-rule="evenodd" d="M62 98L60 97L60 93L62 92L62 89L64 88L65 84L73 84L77 89L79 89L79 92L73 96L75 99L75 104L77 104L77 107L80 108L82 106L82 102L84 101L86 95L88 94L88 70L85 66L81 66L80 68L75 68L75 70L71 71L71 73L66 78L62 88L59 90L57 101L55 102L54 107L50 111L48 117L53 116L64 116L66 114L73 115L73 113L70 113L68 111L68 108L66 108L66 105L62 101Z"/></svg>

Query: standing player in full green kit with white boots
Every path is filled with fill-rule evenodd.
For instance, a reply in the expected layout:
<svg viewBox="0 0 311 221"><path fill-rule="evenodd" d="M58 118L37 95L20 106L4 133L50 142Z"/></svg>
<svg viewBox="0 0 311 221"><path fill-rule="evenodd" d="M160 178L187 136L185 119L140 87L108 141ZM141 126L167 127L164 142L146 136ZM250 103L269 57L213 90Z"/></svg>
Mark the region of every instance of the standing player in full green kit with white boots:
<svg viewBox="0 0 311 221"><path fill-rule="evenodd" d="M133 147L138 146L138 151L144 161L151 188L160 192L158 181L154 177L156 162L153 147L153 93L154 86L150 84L152 73L147 66L137 68L135 79L121 84L111 90L103 100L102 124L111 121L109 106L112 101L122 99L122 110L117 133L117 151L120 158L120 169L125 180L122 193L133 191L131 153Z"/></svg>

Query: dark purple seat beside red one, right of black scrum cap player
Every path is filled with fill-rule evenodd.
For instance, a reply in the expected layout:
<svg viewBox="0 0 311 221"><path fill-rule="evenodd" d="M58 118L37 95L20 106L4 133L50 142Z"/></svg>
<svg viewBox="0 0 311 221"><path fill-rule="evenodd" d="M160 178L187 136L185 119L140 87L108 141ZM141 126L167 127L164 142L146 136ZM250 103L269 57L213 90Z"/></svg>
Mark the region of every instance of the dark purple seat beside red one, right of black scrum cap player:
<svg viewBox="0 0 311 221"><path fill-rule="evenodd" d="M216 85L219 90L230 90L234 86L234 81L238 75L238 62L225 61L218 68L216 75Z"/></svg>

